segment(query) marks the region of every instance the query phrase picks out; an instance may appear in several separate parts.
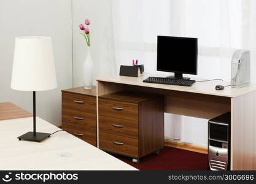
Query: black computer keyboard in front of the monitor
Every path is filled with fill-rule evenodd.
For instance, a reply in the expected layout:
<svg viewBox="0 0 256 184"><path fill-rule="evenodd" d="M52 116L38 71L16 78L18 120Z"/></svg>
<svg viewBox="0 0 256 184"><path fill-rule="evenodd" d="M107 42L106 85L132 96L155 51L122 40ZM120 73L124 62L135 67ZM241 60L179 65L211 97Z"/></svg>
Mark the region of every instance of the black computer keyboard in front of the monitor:
<svg viewBox="0 0 256 184"><path fill-rule="evenodd" d="M178 85L178 86L192 86L195 83L195 80L184 80L184 79L172 79L166 77L148 77L143 80L143 82L148 83L161 83L167 85Z"/></svg>

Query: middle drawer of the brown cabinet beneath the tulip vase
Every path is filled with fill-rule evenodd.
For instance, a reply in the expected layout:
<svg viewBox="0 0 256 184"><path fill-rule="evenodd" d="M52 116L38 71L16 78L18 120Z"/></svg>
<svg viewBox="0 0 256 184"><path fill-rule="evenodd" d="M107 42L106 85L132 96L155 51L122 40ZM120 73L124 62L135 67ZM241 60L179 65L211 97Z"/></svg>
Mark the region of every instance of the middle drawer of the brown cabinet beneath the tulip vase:
<svg viewBox="0 0 256 184"><path fill-rule="evenodd" d="M96 131L96 114L62 109L62 124L93 129Z"/></svg>

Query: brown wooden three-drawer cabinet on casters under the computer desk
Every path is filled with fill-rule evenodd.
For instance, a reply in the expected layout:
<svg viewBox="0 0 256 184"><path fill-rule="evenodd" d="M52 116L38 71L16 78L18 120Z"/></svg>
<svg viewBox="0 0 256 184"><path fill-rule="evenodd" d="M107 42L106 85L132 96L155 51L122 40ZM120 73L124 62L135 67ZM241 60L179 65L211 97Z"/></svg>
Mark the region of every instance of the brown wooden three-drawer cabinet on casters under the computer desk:
<svg viewBox="0 0 256 184"><path fill-rule="evenodd" d="M99 148L139 159L164 146L163 97L131 91L99 96Z"/></svg>

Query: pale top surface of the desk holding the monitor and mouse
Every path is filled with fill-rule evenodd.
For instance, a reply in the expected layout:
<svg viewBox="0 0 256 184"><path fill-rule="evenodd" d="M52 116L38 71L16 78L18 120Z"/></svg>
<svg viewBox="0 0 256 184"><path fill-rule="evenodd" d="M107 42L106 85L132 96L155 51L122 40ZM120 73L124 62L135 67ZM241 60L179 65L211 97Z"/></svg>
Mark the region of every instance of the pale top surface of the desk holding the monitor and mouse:
<svg viewBox="0 0 256 184"><path fill-rule="evenodd" d="M98 81L103 82L113 82L113 83L123 83L127 85L137 85L137 86L145 86L151 88L160 88L165 90L175 90L175 91L185 91L190 93L201 93L201 94L211 94L215 96L226 96L230 98L235 98L236 96L241 96L242 94L249 93L250 91L256 90L256 85L249 85L243 88L231 88L230 82L222 82L220 80L214 80L209 82L196 82L192 86L176 86L176 85L162 85L157 83L145 83L142 82L144 79L147 79L149 76L154 77L166 77L166 75L158 75L158 74L147 74L144 73L140 77L125 77L120 75L114 75L110 77L104 77L96 79ZM202 79L193 79L192 80L202 80ZM216 85L224 85L224 90L215 90Z"/></svg>

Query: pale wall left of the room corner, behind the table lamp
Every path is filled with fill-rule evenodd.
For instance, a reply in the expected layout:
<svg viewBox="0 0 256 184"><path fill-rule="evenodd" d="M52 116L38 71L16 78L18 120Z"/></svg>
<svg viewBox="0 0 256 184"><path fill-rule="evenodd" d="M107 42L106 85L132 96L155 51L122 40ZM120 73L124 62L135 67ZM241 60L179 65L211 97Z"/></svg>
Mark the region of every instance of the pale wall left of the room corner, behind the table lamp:
<svg viewBox="0 0 256 184"><path fill-rule="evenodd" d="M61 90L72 87L71 25L71 0L1 0L0 102L32 112L32 93L10 89L15 37L50 36L58 88L37 93L37 116L61 124Z"/></svg>

